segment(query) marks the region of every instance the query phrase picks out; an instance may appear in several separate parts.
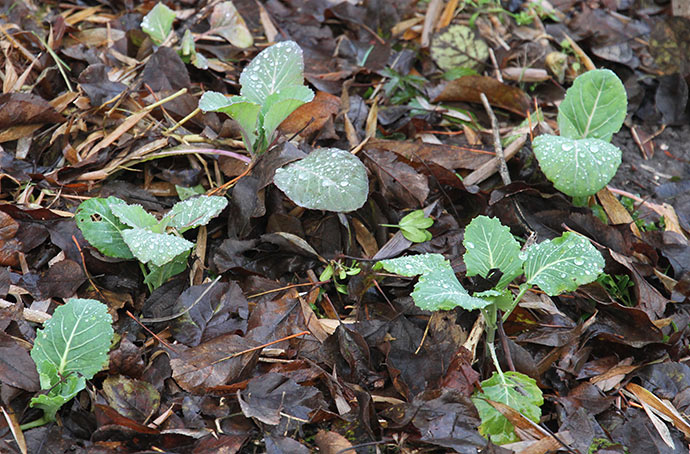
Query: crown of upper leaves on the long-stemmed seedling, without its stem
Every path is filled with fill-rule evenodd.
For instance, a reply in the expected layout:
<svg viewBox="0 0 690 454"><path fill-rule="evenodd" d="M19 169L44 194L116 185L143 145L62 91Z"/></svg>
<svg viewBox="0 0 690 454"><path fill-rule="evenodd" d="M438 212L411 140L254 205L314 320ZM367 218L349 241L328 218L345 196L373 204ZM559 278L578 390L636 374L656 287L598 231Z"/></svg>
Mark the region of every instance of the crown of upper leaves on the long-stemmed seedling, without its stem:
<svg viewBox="0 0 690 454"><path fill-rule="evenodd" d="M487 278L492 270L501 271L502 276L492 290L470 295L440 254L382 260L378 266L402 276L420 275L412 297L417 306L432 311L487 307L502 300L508 284L522 274L525 283L521 288L525 291L537 286L550 296L559 295L593 282L604 267L599 251L576 233L565 232L521 251L508 227L486 216L477 216L470 222L463 245L467 276Z"/></svg>

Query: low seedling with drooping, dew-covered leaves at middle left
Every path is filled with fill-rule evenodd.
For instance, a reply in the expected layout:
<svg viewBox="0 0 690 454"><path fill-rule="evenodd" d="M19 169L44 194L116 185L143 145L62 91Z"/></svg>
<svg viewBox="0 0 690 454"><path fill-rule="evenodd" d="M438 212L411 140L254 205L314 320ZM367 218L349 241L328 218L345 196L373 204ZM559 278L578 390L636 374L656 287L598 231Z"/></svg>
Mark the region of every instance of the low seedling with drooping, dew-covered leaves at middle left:
<svg viewBox="0 0 690 454"><path fill-rule="evenodd" d="M139 260L150 290L183 272L194 243L181 234L206 225L228 204L217 196L176 203L161 220L141 205L117 197L93 198L79 205L77 226L93 247L108 257Z"/></svg>

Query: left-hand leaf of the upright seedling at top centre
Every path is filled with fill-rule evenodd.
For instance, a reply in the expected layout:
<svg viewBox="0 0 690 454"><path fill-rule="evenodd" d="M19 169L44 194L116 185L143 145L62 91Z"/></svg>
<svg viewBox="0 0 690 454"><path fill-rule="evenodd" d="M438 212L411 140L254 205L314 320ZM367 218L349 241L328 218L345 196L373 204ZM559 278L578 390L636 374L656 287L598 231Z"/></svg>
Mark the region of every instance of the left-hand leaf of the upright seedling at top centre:
<svg viewBox="0 0 690 454"><path fill-rule="evenodd" d="M204 112L223 112L239 123L242 137L248 151L254 151L257 140L257 127L261 105L242 96L226 97L222 93L207 91L199 100L199 108Z"/></svg>

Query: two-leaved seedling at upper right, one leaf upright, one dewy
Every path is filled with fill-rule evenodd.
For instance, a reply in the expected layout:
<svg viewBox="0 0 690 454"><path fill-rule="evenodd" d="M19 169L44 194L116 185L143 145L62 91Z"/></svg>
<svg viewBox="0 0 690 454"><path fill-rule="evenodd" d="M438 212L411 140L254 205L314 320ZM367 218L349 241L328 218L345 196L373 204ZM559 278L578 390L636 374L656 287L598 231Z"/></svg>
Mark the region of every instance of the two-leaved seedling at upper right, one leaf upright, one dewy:
<svg viewBox="0 0 690 454"><path fill-rule="evenodd" d="M532 142L542 172L556 189L582 199L608 184L621 163L612 145L627 109L625 87L608 69L575 79L558 109L560 136L544 134Z"/></svg>

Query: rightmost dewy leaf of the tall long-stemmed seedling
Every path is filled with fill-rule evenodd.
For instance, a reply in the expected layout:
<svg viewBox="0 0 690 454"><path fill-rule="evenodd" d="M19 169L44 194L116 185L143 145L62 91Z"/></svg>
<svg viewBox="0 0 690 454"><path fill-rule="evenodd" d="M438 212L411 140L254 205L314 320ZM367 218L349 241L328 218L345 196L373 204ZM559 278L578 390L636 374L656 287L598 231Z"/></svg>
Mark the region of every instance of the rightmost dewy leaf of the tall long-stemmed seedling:
<svg viewBox="0 0 690 454"><path fill-rule="evenodd" d="M547 295L572 292L594 282L604 269L604 258L585 237L565 232L559 238L527 248L524 263L527 283Z"/></svg>

